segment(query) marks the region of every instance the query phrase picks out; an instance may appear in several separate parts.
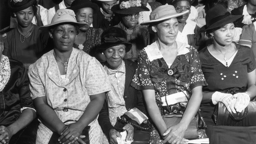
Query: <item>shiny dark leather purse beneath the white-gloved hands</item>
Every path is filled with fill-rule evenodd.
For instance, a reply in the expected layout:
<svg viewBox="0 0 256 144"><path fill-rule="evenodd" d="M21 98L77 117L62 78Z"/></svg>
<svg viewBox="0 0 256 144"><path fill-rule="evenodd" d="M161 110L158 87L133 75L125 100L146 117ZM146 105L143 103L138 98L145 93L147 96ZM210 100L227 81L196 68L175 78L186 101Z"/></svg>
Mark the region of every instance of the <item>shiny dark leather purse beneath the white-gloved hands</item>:
<svg viewBox="0 0 256 144"><path fill-rule="evenodd" d="M216 126L256 126L256 101L250 101L241 113L230 113L225 105L219 102L214 109L212 119Z"/></svg>

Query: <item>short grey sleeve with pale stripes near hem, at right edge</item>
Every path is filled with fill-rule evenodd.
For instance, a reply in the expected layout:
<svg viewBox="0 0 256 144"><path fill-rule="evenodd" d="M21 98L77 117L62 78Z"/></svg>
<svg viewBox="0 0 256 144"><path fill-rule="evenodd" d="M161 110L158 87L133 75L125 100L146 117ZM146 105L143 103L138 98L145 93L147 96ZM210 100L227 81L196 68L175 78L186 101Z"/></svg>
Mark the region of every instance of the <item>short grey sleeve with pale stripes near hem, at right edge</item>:
<svg viewBox="0 0 256 144"><path fill-rule="evenodd" d="M255 31L255 27L254 27L253 23L250 25L244 26L242 28L242 34L241 34L241 38L239 40L239 44L252 45L253 31Z"/></svg>

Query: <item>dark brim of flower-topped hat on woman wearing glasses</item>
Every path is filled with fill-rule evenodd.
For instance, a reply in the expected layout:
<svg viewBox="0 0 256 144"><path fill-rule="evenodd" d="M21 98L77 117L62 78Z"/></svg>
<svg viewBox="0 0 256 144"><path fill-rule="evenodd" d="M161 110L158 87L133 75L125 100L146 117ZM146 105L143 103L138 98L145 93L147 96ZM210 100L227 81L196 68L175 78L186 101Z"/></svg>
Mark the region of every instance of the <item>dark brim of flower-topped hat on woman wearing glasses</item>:
<svg viewBox="0 0 256 144"><path fill-rule="evenodd" d="M117 13L117 14L123 14L123 15L129 15L129 14L135 14L135 13L138 13L138 12L142 12L142 11L149 11L148 7L145 7L145 6L140 6L140 7L129 7L128 9L120 9L120 6L119 5L114 5L112 8L111 8L111 11L113 11L114 13Z"/></svg>

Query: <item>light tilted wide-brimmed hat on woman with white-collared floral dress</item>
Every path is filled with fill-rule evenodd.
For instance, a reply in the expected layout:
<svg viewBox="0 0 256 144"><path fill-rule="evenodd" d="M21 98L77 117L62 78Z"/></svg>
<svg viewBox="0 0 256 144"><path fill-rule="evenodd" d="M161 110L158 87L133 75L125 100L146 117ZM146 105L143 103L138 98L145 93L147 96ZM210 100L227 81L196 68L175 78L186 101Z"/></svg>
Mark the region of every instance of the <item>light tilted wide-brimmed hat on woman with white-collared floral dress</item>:
<svg viewBox="0 0 256 144"><path fill-rule="evenodd" d="M150 13L150 21L142 22L142 23L140 23L140 25L145 26L145 25L150 25L152 23L160 23L164 20L178 17L178 16L184 15L188 12L189 12L189 10L178 13L178 12L176 12L174 6L162 5L162 6L157 7L155 10L153 10Z"/></svg>

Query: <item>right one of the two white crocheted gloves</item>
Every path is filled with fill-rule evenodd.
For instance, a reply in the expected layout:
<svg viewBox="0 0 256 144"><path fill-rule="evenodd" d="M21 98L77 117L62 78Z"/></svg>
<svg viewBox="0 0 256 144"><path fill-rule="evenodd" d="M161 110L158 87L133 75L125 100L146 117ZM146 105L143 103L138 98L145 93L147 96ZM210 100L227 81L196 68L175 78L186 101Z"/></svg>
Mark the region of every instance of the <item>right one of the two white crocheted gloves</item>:
<svg viewBox="0 0 256 144"><path fill-rule="evenodd" d="M234 94L234 98L236 98L235 110L237 112L242 112L249 105L250 96L246 93Z"/></svg>

